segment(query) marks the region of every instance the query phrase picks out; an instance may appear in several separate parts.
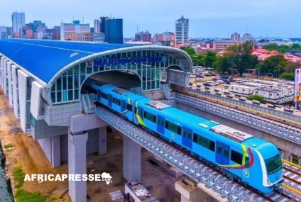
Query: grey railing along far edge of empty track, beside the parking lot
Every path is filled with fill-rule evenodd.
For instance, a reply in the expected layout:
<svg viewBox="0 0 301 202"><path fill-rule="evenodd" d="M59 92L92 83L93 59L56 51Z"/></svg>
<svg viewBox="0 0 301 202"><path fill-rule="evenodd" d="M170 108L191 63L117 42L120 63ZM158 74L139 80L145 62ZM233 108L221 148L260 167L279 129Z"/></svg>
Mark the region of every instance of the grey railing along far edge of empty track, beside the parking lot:
<svg viewBox="0 0 301 202"><path fill-rule="evenodd" d="M286 118L286 119L294 120L296 122L301 122L301 116L296 116L296 115L294 115L292 113L289 113L289 112L277 111L273 108L258 106L258 105L253 104L253 103L246 103L245 101L238 101L238 100L234 100L234 99L231 99L231 98L226 98L226 97L223 97L223 96L219 96L217 94L210 94L208 92L194 90L194 89L191 89L191 88L188 88L188 87L185 88L185 91L192 92L194 94L199 94L200 96L207 96L207 97L212 98L212 99L225 101L227 103L232 103L234 105L239 105L239 106L243 106L243 107L246 107L246 108L251 108L253 110L261 111L263 113L270 113L273 116L279 116L281 118Z"/></svg>

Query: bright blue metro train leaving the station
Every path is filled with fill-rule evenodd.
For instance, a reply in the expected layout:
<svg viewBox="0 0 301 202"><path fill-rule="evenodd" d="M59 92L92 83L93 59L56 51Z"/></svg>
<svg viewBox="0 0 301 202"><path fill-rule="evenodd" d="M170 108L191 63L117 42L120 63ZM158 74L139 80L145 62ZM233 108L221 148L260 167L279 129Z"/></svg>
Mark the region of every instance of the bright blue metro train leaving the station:
<svg viewBox="0 0 301 202"><path fill-rule="evenodd" d="M153 101L111 84L86 82L97 103L161 138L185 147L230 178L270 193L283 181L277 147L226 125Z"/></svg>

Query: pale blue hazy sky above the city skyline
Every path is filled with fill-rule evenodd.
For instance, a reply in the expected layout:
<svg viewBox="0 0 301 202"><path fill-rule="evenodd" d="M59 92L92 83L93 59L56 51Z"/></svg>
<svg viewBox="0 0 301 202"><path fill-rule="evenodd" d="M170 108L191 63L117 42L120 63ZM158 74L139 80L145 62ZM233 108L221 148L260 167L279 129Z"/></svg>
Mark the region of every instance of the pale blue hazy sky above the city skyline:
<svg viewBox="0 0 301 202"><path fill-rule="evenodd" d="M124 19L124 37L139 31L175 32L175 21L189 18L190 38L301 38L300 0L0 0L0 26L11 26L11 13L23 11L26 23L41 20L49 28L73 18L90 23L100 16Z"/></svg>

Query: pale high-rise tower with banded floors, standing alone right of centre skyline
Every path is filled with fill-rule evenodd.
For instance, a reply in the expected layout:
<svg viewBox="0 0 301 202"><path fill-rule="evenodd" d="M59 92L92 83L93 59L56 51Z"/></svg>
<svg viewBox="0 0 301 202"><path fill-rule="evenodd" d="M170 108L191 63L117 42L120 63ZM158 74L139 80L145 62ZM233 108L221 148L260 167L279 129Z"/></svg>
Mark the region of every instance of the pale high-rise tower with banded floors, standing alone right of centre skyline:
<svg viewBox="0 0 301 202"><path fill-rule="evenodd" d="M188 41L189 20L183 16L175 21L175 43L187 43Z"/></svg>

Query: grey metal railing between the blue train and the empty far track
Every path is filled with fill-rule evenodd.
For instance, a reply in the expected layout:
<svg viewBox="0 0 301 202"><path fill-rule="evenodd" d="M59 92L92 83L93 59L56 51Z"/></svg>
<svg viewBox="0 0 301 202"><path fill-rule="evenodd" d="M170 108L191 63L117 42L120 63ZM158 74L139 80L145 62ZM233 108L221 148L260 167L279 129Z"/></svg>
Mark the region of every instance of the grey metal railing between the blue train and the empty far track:
<svg viewBox="0 0 301 202"><path fill-rule="evenodd" d="M276 124L275 121L261 118L261 116L241 112L234 108L221 106L217 103L204 101L202 99L187 96L185 94L176 93L175 101L188 106L192 106L194 108L198 108L202 111L207 111L208 113L214 113L217 116L234 120L238 123L242 123L243 125L248 125L252 128L256 128L271 135L275 135L278 138L290 140L291 142L301 145L301 131L297 130L297 128L296 130L292 130L291 126L285 125L283 123Z"/></svg>

